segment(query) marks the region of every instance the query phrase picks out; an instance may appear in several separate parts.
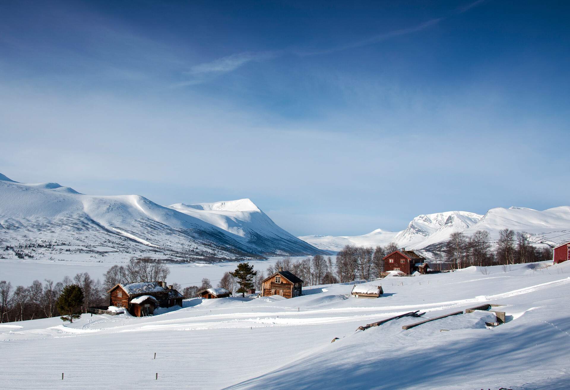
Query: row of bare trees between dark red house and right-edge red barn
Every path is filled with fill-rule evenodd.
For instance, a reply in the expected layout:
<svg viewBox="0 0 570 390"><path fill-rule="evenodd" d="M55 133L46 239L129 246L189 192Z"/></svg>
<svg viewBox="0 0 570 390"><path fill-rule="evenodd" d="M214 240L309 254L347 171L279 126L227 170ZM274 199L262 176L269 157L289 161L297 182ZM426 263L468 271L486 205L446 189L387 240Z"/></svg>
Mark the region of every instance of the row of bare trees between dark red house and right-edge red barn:
<svg viewBox="0 0 570 390"><path fill-rule="evenodd" d="M444 256L436 255L436 260L445 257L451 269L469 266L492 266L540 262L552 258L552 249L532 246L527 232L515 232L505 228L499 232L495 250L489 232L478 230L467 236L462 232L451 234L445 246Z"/></svg>

